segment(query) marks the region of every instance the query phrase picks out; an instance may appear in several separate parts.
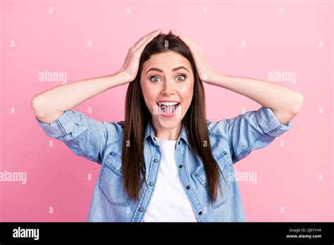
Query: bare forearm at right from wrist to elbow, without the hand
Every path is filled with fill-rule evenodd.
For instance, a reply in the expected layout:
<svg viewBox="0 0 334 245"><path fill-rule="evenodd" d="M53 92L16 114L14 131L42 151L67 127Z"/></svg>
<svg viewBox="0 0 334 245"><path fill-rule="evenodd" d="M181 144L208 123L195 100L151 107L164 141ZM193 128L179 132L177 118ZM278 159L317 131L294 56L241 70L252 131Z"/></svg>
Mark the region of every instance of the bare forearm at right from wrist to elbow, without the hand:
<svg viewBox="0 0 334 245"><path fill-rule="evenodd" d="M283 125L299 113L304 101L304 96L299 92L263 80L212 73L209 83L247 96L262 106L271 108Z"/></svg>

